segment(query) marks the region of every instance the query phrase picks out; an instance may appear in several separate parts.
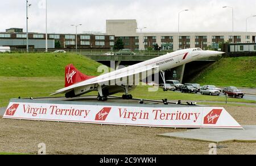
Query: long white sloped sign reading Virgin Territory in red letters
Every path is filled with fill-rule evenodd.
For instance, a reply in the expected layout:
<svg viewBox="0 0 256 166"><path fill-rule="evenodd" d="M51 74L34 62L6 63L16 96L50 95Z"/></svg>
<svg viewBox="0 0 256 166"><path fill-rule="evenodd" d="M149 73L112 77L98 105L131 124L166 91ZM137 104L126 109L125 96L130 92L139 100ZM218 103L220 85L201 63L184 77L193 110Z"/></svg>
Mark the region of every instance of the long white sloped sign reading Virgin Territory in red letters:
<svg viewBox="0 0 256 166"><path fill-rule="evenodd" d="M10 102L3 118L170 128L242 128L223 107Z"/></svg>

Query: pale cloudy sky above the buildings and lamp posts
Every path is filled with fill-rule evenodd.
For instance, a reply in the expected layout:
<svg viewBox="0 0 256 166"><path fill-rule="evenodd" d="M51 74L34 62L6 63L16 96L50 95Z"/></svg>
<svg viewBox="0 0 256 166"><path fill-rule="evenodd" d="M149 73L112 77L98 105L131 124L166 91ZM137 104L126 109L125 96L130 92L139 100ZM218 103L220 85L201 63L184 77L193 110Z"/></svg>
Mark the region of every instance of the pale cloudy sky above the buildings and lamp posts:
<svg viewBox="0 0 256 166"><path fill-rule="evenodd" d="M26 31L26 0L0 1L0 31L11 27ZM28 0L29 32L46 31L46 0ZM48 0L48 32L74 33L71 24L82 24L78 32L106 32L106 19L136 19L145 32L246 30L246 18L256 15L255 0ZM256 32L256 17L248 19L248 31Z"/></svg>

